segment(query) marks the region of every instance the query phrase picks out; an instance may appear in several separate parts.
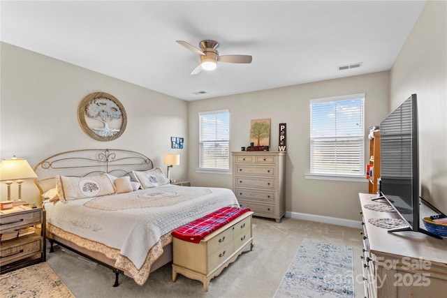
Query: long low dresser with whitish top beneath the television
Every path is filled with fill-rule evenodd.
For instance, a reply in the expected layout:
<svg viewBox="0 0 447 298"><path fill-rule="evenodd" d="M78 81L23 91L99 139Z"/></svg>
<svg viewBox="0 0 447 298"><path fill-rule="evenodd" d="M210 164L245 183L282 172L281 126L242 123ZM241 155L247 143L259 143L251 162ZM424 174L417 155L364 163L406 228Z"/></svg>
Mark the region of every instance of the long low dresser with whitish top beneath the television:
<svg viewBox="0 0 447 298"><path fill-rule="evenodd" d="M375 194L360 193L362 258L365 297L444 297L447 288L447 238L425 232L389 233L369 223L370 218L400 218L396 212L365 208ZM379 203L379 202L378 202ZM427 207L421 206L422 216ZM428 211L430 213L430 211Z"/></svg>

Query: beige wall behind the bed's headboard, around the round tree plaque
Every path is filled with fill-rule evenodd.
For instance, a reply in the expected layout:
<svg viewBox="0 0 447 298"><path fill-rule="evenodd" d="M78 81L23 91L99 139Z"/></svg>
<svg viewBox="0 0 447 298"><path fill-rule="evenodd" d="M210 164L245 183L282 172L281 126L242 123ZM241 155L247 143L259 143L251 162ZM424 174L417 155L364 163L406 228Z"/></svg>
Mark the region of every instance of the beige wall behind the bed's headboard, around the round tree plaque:
<svg viewBox="0 0 447 298"><path fill-rule="evenodd" d="M0 158L26 158L34 167L52 154L73 149L114 148L139 151L163 165L165 153L181 154L175 178L187 178L185 149L170 149L170 136L186 137L187 103L128 82L1 43ZM92 139L78 123L78 105L91 92L112 94L124 105L126 131L110 142ZM169 109L166 107L169 106ZM186 141L188 139L186 138ZM6 200L6 187L1 200ZM13 184L13 198L17 184ZM38 191L25 181L22 196L38 202Z"/></svg>

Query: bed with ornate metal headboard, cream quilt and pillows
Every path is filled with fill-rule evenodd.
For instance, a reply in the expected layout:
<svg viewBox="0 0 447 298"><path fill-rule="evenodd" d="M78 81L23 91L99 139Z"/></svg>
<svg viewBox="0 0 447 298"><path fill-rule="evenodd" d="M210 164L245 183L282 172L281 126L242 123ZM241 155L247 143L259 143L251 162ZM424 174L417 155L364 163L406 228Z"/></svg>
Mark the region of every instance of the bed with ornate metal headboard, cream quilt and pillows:
<svg viewBox="0 0 447 298"><path fill-rule="evenodd" d="M135 151L66 151L34 170L50 244L110 267L114 286L119 274L143 285L150 272L172 261L173 230L221 207L239 206L227 188L170 184Z"/></svg>

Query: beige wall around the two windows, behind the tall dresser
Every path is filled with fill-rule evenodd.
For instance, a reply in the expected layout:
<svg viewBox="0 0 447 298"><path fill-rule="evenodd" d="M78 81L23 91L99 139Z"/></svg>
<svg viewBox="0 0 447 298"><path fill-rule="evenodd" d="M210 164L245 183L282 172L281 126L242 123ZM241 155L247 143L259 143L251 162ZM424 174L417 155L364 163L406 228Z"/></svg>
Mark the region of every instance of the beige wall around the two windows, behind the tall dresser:
<svg viewBox="0 0 447 298"><path fill-rule="evenodd" d="M309 99L365 92L365 135L388 112L389 73L372 73L189 103L189 179L196 185L232 187L228 174L197 173L198 112L230 110L230 150L249 146L251 119L271 119L270 146L278 150L279 123L287 124L286 211L360 220L358 193L365 182L305 179L309 173ZM365 156L369 140L365 139Z"/></svg>

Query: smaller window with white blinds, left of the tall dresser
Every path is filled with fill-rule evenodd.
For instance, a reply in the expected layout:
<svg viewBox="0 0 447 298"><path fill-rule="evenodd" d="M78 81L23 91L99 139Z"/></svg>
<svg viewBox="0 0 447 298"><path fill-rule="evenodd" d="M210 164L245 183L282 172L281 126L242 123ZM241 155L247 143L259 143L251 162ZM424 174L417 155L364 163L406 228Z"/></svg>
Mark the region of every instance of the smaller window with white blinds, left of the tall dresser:
<svg viewBox="0 0 447 298"><path fill-rule="evenodd" d="M230 112L200 112L200 169L230 169Z"/></svg>

